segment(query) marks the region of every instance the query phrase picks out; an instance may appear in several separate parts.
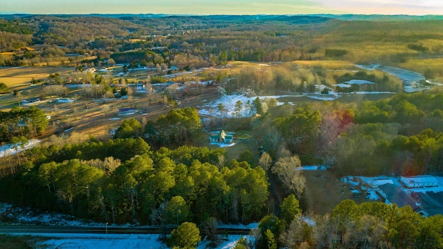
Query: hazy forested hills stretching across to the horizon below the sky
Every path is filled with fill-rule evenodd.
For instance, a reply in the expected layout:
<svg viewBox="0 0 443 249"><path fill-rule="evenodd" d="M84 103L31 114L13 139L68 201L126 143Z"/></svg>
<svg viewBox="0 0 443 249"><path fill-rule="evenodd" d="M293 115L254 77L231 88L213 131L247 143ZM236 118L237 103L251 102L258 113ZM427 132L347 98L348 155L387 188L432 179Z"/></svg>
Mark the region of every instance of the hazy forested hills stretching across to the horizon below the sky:
<svg viewBox="0 0 443 249"><path fill-rule="evenodd" d="M416 59L441 55L441 19L376 20L343 21L340 17L316 16L30 15L0 19L0 50L25 50L2 53L0 65L97 65L112 58L125 64L201 68L234 60L342 59L412 69L411 62ZM85 54L96 57L81 62L64 56ZM415 69L428 78L443 75L437 66Z"/></svg>

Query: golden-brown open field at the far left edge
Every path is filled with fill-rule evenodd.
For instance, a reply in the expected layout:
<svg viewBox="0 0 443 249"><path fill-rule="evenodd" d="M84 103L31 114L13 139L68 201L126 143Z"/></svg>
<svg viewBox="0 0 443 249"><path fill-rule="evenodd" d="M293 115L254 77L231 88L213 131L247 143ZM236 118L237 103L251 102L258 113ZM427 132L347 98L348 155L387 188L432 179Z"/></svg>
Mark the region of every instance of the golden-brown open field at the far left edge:
<svg viewBox="0 0 443 249"><path fill-rule="evenodd" d="M67 73L73 71L74 68L56 68L56 67L6 67L0 68L0 82L8 85L10 89L21 89L30 80L48 77L51 73Z"/></svg>

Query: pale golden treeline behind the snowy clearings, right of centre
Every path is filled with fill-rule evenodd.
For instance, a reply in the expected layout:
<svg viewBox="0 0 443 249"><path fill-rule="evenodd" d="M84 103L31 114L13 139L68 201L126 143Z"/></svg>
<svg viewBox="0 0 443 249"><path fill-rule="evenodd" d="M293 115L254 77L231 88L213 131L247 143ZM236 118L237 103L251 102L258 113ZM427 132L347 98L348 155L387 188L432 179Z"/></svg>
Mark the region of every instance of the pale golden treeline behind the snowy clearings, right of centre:
<svg viewBox="0 0 443 249"><path fill-rule="evenodd" d="M230 80L221 81L228 93L239 89L251 89L258 94L269 94L275 90L298 93L314 93L320 86L327 86L336 92L354 91L403 91L403 84L397 77L379 71L334 71L321 66L302 68L296 64L279 66L244 67L230 75ZM374 84L350 84L349 88L336 86L350 80L367 80Z"/></svg>

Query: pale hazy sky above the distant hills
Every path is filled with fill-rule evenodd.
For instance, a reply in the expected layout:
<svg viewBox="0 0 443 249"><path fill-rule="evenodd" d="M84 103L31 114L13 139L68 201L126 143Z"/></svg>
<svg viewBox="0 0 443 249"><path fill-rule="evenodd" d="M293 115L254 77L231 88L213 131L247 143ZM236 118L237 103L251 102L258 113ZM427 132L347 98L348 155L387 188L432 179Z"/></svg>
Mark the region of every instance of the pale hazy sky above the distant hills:
<svg viewBox="0 0 443 249"><path fill-rule="evenodd" d="M0 0L0 13L443 15L442 0Z"/></svg>

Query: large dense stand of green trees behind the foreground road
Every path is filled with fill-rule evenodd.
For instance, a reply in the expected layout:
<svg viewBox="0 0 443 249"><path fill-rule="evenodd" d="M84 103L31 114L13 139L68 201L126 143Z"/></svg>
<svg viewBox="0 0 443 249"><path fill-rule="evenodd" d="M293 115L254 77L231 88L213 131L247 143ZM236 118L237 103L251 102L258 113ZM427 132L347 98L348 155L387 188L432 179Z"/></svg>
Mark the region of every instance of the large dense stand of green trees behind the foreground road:
<svg viewBox="0 0 443 249"><path fill-rule="evenodd" d="M111 223L178 225L216 217L248 223L263 214L266 173L222 149L161 148L141 138L33 148L15 175L1 178L2 201ZM69 158L69 159L67 159Z"/></svg>

